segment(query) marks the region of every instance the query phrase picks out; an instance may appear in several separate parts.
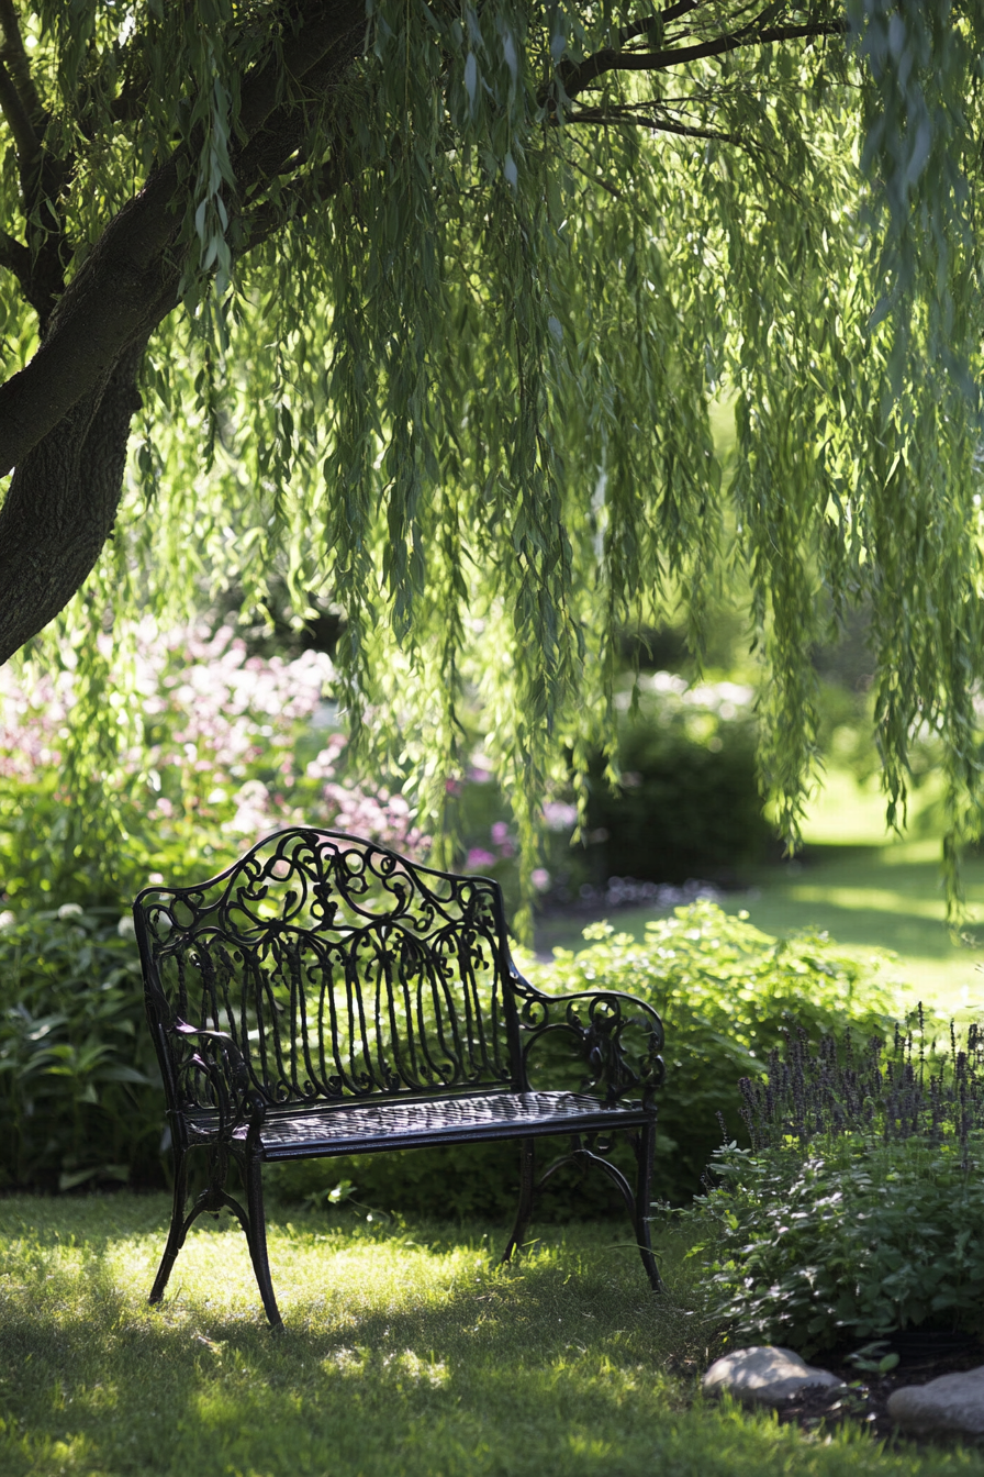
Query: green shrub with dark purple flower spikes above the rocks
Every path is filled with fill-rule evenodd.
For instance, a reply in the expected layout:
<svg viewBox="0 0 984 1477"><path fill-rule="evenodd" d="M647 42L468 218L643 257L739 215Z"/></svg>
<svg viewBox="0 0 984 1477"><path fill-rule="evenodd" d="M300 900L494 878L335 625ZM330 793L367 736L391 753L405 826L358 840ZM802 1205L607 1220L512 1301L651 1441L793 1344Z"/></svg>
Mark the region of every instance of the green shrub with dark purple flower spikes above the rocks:
<svg viewBox="0 0 984 1477"><path fill-rule="evenodd" d="M984 1075L977 1027L940 1055L794 1032L742 1084L754 1148L730 1143L689 1213L717 1312L804 1353L929 1323L984 1331Z"/></svg>

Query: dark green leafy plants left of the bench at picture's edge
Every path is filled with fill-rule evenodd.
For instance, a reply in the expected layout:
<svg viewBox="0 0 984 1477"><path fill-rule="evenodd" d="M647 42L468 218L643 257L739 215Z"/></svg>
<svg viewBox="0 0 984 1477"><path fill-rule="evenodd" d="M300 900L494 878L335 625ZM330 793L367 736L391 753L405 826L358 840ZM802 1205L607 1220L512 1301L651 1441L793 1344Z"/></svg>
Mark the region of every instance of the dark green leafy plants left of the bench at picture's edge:
<svg viewBox="0 0 984 1477"><path fill-rule="evenodd" d="M133 922L0 913L0 1185L159 1183L162 1089Z"/></svg>

